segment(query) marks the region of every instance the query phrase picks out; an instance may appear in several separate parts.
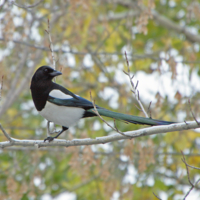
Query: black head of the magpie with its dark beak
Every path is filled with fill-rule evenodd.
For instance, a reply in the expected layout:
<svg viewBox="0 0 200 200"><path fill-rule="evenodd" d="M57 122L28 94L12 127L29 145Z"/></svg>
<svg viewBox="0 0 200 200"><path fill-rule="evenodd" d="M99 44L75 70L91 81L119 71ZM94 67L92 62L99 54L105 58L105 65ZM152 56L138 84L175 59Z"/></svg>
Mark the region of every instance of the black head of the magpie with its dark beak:
<svg viewBox="0 0 200 200"><path fill-rule="evenodd" d="M62 73L54 70L49 66L42 66L37 69L35 74L33 75L32 80L34 81L51 81L55 76L59 76Z"/></svg>

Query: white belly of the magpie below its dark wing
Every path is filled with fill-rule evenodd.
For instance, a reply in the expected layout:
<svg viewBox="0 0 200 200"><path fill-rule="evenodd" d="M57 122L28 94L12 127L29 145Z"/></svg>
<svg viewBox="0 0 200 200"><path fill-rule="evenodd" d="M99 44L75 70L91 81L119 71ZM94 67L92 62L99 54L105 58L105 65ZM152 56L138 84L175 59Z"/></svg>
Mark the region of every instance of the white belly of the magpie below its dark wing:
<svg viewBox="0 0 200 200"><path fill-rule="evenodd" d="M84 112L83 108L57 106L47 101L45 108L39 113L48 121L70 127L82 118Z"/></svg>

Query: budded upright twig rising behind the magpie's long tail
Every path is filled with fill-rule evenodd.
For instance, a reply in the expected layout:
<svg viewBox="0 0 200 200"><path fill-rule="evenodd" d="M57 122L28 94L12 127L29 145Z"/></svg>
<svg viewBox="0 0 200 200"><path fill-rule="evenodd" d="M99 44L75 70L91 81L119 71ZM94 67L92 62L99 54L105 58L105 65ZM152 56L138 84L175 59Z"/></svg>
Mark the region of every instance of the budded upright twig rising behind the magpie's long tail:
<svg viewBox="0 0 200 200"><path fill-rule="evenodd" d="M137 81L136 86L135 86L134 83L133 83L134 76L131 76L131 74L130 74L129 61L128 61L128 58L127 58L126 51L125 51L125 58L126 58L126 63L127 63L127 67L128 67L128 72L126 72L126 71L123 71L123 72L129 77L129 80L130 80L130 83L131 83L131 86L132 86L131 91L135 95L135 98L136 98L138 104L140 105L140 108L141 108L142 112L144 113L145 117L148 118L149 116L148 116L147 112L145 111L144 106L142 105L142 102L140 101L139 91L137 90L139 81Z"/></svg>

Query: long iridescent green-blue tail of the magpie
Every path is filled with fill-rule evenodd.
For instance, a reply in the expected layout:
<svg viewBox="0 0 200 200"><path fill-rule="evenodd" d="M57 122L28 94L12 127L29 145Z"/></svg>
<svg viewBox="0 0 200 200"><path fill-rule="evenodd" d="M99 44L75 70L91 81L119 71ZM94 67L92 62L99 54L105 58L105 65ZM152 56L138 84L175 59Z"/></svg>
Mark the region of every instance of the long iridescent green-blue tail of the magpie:
<svg viewBox="0 0 200 200"><path fill-rule="evenodd" d="M88 116L90 115L89 113L91 113L91 116L94 116L93 110L94 109L87 110ZM145 125L156 126L156 125L169 125L169 124L176 123L176 122L168 122L168 121L156 120L156 119L145 118L145 117L137 117L133 115L126 115L122 113L112 112L104 108L97 108L97 111L102 116L110 117L110 118L118 119L118 120L123 120L123 121L130 122L133 124L145 124Z"/></svg>

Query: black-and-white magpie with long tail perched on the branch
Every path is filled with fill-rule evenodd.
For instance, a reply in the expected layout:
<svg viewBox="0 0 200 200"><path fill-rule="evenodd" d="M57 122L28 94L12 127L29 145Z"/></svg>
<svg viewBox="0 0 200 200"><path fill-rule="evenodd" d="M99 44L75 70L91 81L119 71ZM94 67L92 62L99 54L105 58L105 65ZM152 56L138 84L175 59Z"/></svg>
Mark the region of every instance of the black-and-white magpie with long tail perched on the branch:
<svg viewBox="0 0 200 200"><path fill-rule="evenodd" d="M51 142L55 138L58 138L58 136L82 118L97 116L91 101L72 93L53 81L54 77L61 74L60 71L44 65L36 70L31 80L31 95L39 114L49 122L54 122L54 124L62 126L61 131L56 136L48 136L44 139L44 142ZM98 105L95 106L101 116L122 120L128 123L150 126L175 123L117 113Z"/></svg>

